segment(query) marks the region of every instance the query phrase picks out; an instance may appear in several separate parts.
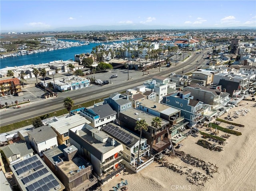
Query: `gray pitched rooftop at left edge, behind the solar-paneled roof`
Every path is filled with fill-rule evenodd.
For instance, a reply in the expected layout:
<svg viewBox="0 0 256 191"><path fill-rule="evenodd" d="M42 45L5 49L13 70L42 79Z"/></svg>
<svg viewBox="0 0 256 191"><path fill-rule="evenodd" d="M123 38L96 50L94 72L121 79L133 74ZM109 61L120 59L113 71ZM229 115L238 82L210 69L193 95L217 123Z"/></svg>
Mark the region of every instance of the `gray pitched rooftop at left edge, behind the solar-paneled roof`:
<svg viewBox="0 0 256 191"><path fill-rule="evenodd" d="M20 156L23 157L34 152L30 144L27 144L25 141L3 146L1 147L1 150L4 152L6 158L16 154L20 154Z"/></svg>

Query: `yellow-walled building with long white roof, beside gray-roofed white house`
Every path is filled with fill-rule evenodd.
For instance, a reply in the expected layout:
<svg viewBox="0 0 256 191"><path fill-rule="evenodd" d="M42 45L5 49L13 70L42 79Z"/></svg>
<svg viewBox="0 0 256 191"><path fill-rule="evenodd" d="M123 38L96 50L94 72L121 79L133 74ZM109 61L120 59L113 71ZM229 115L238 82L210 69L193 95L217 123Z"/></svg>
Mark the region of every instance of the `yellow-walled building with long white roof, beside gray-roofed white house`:
<svg viewBox="0 0 256 191"><path fill-rule="evenodd" d="M68 118L60 118L56 122L48 123L57 134L58 145L65 144L66 146L70 146L68 130L75 127L83 127L85 124L90 124L90 121L80 115L72 115Z"/></svg>

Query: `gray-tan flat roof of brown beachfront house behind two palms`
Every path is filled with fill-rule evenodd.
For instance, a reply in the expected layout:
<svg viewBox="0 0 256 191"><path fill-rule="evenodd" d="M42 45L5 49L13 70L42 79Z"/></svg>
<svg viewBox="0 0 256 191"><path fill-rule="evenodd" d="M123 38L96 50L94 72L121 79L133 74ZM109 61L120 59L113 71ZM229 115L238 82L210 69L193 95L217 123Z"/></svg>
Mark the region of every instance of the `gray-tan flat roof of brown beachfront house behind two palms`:
<svg viewBox="0 0 256 191"><path fill-rule="evenodd" d="M120 113L125 114L135 120L144 119L146 121L146 123L148 124L148 126L151 126L151 122L152 122L153 118L156 117L154 115L150 115L146 112L142 112L141 110L134 109L134 108L130 108L130 109L128 109L126 111L122 111ZM168 123L169 123L168 121L162 119L162 122L161 122L162 126L164 126Z"/></svg>

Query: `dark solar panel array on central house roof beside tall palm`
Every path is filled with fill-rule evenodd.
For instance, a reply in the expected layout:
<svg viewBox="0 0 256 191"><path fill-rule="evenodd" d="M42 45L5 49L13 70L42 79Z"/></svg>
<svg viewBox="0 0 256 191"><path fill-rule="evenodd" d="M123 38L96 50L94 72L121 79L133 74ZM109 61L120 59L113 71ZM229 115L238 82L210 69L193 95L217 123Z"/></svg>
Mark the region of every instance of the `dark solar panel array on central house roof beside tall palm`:
<svg viewBox="0 0 256 191"><path fill-rule="evenodd" d="M108 132L113 137L116 137L120 141L124 142L124 144L130 144L134 140L133 136L110 124L104 126L103 130Z"/></svg>

